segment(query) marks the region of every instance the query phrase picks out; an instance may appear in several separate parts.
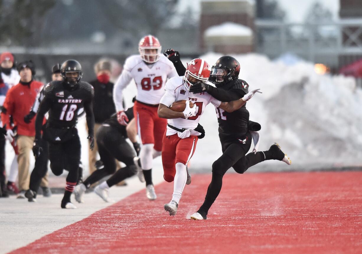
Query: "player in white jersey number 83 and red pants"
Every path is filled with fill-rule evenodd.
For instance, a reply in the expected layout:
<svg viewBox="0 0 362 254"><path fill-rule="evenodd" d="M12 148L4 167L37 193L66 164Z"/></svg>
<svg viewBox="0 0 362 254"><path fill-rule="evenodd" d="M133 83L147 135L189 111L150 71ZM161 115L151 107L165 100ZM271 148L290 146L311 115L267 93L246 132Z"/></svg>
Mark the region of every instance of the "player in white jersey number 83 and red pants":
<svg viewBox="0 0 362 254"><path fill-rule="evenodd" d="M157 196L152 183L152 161L161 155L162 136L167 125L167 121L157 115L157 108L165 93L167 79L178 75L173 64L161 55L161 45L156 37L148 35L142 38L138 50L139 55L126 59L122 74L114 86L113 99L118 122L127 125L128 118L122 105L123 89L132 79L135 81L137 96L133 110L142 141L139 157L146 180L146 196L155 200Z"/></svg>

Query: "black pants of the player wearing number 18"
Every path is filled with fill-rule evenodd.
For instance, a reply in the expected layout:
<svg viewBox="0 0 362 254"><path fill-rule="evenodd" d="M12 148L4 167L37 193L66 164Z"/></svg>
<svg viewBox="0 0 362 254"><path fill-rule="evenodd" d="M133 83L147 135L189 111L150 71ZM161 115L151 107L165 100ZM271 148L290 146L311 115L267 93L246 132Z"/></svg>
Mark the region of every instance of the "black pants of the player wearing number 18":
<svg viewBox="0 0 362 254"><path fill-rule="evenodd" d="M80 140L76 133L70 140L62 143L49 142L50 169L54 175L69 171L67 182L76 183L80 163Z"/></svg>

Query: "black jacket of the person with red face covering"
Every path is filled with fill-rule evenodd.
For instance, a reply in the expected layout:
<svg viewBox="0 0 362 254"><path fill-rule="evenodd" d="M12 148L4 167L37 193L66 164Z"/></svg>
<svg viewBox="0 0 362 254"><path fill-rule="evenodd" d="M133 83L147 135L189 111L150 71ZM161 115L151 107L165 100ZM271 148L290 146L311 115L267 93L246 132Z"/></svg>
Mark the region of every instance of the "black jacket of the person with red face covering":
<svg viewBox="0 0 362 254"><path fill-rule="evenodd" d="M89 82L94 87L93 113L96 123L101 124L115 113L115 105L113 102L113 86L100 83L97 79Z"/></svg>

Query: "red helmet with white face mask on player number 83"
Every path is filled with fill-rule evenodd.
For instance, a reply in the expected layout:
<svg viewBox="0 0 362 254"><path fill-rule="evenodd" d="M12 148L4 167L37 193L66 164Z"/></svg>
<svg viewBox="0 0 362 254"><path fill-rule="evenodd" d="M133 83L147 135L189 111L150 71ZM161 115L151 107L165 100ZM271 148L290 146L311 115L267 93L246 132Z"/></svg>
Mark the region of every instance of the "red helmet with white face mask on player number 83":
<svg viewBox="0 0 362 254"><path fill-rule="evenodd" d="M143 61L155 63L160 58L161 44L155 36L148 35L139 41L138 51Z"/></svg>

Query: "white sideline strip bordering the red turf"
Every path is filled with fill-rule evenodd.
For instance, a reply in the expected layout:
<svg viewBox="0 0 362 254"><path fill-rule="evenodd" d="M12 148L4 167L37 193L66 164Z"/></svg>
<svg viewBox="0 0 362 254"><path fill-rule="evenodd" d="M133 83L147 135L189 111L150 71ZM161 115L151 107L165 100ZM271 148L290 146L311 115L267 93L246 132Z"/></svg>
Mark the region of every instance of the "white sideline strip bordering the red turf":
<svg viewBox="0 0 362 254"><path fill-rule="evenodd" d="M158 163L157 163L158 164ZM163 182L162 168L152 172L153 183ZM110 197L115 201L124 199L145 188L137 176L127 179L127 186L110 188ZM144 198L146 197L146 191ZM157 194L157 193L156 193ZM67 225L83 220L92 213L108 207L95 193L85 194L85 203L78 204L72 195L72 202L78 209L61 209L63 194L54 194L51 198L39 195L36 203L28 199L16 199L15 196L0 199L0 253L18 249L35 240L64 228ZM152 201L149 201L152 202Z"/></svg>

